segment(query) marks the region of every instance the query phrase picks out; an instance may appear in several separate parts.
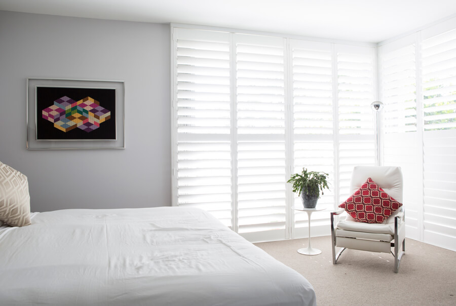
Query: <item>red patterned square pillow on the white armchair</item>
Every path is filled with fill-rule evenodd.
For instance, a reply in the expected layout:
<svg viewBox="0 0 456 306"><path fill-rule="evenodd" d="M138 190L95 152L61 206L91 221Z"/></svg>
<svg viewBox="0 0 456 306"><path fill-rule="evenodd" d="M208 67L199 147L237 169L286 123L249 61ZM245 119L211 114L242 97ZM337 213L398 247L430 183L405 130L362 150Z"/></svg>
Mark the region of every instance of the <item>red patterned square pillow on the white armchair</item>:
<svg viewBox="0 0 456 306"><path fill-rule="evenodd" d="M344 208L358 222L382 223L402 203L391 198L370 177L339 207Z"/></svg>

